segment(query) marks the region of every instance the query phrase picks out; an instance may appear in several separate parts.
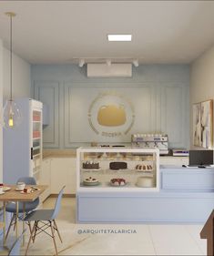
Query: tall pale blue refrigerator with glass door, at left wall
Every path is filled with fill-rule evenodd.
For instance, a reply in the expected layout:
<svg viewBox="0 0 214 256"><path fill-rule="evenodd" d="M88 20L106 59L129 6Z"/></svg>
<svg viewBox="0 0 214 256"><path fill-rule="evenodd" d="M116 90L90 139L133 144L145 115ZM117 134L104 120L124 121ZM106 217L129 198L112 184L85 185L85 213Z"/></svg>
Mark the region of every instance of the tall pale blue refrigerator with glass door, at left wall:
<svg viewBox="0 0 214 256"><path fill-rule="evenodd" d="M42 167L43 104L32 98L15 100L21 118L17 127L3 131L3 182L33 176L39 183Z"/></svg>

